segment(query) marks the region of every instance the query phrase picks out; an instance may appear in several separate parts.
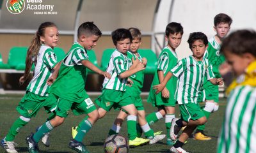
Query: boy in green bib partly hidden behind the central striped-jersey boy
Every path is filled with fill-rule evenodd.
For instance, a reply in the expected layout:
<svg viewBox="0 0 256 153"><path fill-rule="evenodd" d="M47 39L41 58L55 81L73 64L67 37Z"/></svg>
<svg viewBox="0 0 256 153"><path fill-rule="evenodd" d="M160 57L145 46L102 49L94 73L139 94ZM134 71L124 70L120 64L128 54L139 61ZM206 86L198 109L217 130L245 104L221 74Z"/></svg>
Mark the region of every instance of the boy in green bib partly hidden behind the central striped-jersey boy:
<svg viewBox="0 0 256 153"><path fill-rule="evenodd" d="M141 45L140 30L137 28L131 27L129 28L129 31L131 32L131 35L132 35L132 43L129 51L127 52L127 57L130 63L132 61L132 58L134 58L134 59L139 59L144 64L144 66L146 66L147 59L142 58L138 53L138 49L140 48L140 45ZM129 79L131 79L132 85L127 85L125 92L128 92L129 94L131 94L132 101L138 113L138 120L139 120L141 129L145 133L145 136L148 139L150 139L149 144L152 145L154 143L159 142L160 140L163 140L165 135L154 135L154 131L150 128L150 126L147 123L147 120L145 119L145 110L143 107L142 99L140 97L140 93L141 93L141 89L143 87L143 81L144 81L144 72L138 71L134 75L131 75ZM116 117L116 120L112 128L109 130L109 135L115 135L116 133L119 133L125 117L127 117L127 112L125 110L120 110L120 113ZM129 127L132 125L127 124L127 126Z"/></svg>

